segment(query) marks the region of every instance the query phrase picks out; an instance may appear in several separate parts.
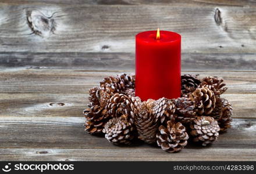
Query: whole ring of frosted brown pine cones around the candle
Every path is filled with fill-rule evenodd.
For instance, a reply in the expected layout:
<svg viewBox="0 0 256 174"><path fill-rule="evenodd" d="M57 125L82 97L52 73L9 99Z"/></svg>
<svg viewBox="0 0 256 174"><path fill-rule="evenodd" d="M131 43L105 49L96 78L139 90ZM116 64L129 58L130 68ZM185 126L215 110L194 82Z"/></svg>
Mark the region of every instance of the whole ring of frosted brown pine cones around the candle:
<svg viewBox="0 0 256 174"><path fill-rule="evenodd" d="M220 96L227 89L223 79L197 76L182 75L182 97L144 102L135 96L134 75L106 77L89 90L85 130L105 133L113 144L130 144L135 137L149 144L157 142L169 153L182 150L189 135L193 142L207 146L219 131L230 128L233 108Z"/></svg>

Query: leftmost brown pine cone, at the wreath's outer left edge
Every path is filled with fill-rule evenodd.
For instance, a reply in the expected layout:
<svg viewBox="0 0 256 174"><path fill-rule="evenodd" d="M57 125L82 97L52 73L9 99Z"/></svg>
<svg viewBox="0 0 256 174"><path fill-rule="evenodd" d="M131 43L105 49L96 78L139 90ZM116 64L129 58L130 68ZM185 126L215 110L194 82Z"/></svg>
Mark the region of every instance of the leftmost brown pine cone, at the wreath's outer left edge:
<svg viewBox="0 0 256 174"><path fill-rule="evenodd" d="M102 129L109 120L109 114L105 108L97 105L84 110L84 117L86 117L85 131L91 134L102 133Z"/></svg>

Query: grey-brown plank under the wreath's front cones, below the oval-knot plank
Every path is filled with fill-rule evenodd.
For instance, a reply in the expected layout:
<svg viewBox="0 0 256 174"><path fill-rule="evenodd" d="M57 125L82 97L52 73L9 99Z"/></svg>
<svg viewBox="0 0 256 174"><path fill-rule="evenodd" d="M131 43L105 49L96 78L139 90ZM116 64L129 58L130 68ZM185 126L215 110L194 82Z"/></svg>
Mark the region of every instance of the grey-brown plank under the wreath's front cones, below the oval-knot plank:
<svg viewBox="0 0 256 174"><path fill-rule="evenodd" d="M127 151L157 148L141 142L133 146L115 146L104 137L84 132L83 124L83 117L1 117L0 148L123 148ZM255 119L233 119L232 125L232 129L222 133L207 149L256 147ZM186 148L202 149L193 144Z"/></svg>

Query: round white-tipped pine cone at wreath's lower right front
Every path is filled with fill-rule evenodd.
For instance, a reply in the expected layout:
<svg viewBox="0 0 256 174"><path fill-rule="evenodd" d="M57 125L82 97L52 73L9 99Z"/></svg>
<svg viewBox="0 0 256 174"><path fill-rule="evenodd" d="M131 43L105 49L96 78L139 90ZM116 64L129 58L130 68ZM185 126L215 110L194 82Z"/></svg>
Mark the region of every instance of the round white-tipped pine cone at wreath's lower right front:
<svg viewBox="0 0 256 174"><path fill-rule="evenodd" d="M214 142L219 136L218 122L212 117L196 117L190 123L190 135L193 142L202 143L202 146Z"/></svg>

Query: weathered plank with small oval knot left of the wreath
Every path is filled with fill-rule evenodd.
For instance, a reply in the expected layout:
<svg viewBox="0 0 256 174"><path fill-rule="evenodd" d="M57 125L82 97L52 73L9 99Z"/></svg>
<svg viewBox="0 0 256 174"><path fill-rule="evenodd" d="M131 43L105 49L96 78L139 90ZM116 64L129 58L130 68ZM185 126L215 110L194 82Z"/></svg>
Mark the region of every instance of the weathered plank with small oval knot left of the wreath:
<svg viewBox="0 0 256 174"><path fill-rule="evenodd" d="M0 117L83 117L89 103L88 93L1 93L0 96ZM256 118L256 94L234 93L223 97L232 103L234 118Z"/></svg>

